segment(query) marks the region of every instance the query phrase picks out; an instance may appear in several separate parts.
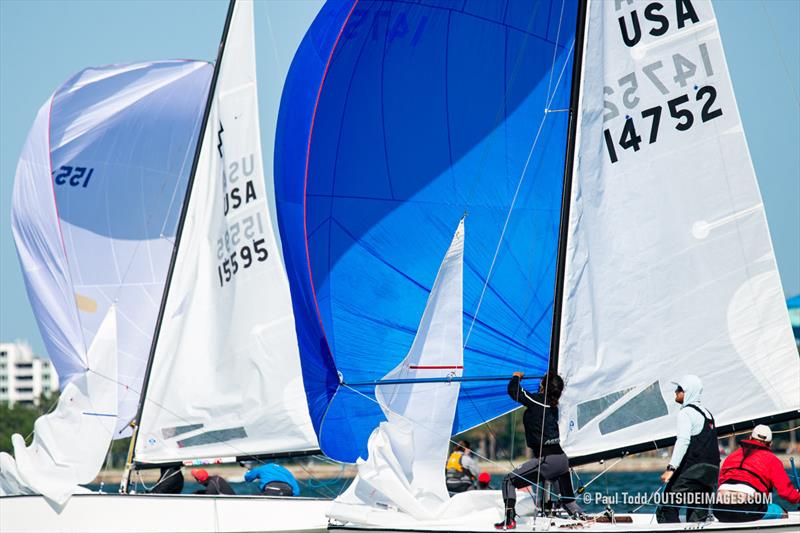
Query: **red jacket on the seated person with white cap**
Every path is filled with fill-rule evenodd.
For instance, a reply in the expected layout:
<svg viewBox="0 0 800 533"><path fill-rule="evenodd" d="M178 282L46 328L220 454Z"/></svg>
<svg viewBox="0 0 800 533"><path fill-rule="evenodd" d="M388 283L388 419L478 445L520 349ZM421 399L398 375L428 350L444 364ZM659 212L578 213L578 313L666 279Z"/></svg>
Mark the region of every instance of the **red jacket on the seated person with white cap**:
<svg viewBox="0 0 800 533"><path fill-rule="evenodd" d="M730 454L719 469L719 484L740 482L759 492L771 493L775 489L781 498L790 503L800 503L800 492L775 457L769 445L758 440L743 440L738 450Z"/></svg>

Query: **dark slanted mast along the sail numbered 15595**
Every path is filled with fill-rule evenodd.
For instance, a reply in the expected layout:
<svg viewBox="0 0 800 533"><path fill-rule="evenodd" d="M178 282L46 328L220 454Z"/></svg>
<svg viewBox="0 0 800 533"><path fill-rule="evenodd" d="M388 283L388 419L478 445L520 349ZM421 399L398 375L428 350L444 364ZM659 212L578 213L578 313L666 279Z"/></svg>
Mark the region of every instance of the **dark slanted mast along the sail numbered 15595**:
<svg viewBox="0 0 800 533"><path fill-rule="evenodd" d="M156 327L153 332L153 341L150 344L150 354L147 358L147 366L145 367L144 379L142 381L142 390L139 394L139 408L136 410L136 417L131 421L133 433L131 434L131 445L128 449L128 457L125 462L125 470L122 474L122 481L120 482L119 491L121 493L128 492L128 485L130 484L131 468L133 466L134 453L136 449L136 438L139 432L139 423L142 419L142 412L144 411L144 402L147 395L147 386L150 381L150 373L153 369L153 360L155 359L156 347L158 345L158 337L161 333L161 324L164 319L164 312L167 306L167 295L169 294L170 283L172 282L172 275L175 271L175 263L178 258L178 248L181 242L181 235L183 234L183 226L186 221L186 214L189 210L189 200L192 196L192 188L194 186L194 178L197 174L197 165L200 161L200 151L203 147L203 139L206 134L206 126L208 125L208 117L211 114L211 105L214 102L214 92L217 86L217 79L219 78L220 68L222 66L222 56L225 53L225 42L228 39L228 30L233 20L233 11L236 6L236 0L230 0L228 4L228 14L225 17L225 26L222 30L222 38L220 40L219 49L217 50L217 61L214 64L214 73L211 75L211 84L208 87L208 98L206 99L206 107L203 112L203 120L200 125L200 134L197 137L197 144L194 150L194 159L192 160L192 170L189 173L189 180L186 184L186 195L183 199L183 206L181 207L181 215L178 219L178 228L175 232L175 245L172 247L172 256L169 260L169 269L167 270L167 279L164 283L164 291L161 295L161 305L158 309L158 318L156 320Z"/></svg>

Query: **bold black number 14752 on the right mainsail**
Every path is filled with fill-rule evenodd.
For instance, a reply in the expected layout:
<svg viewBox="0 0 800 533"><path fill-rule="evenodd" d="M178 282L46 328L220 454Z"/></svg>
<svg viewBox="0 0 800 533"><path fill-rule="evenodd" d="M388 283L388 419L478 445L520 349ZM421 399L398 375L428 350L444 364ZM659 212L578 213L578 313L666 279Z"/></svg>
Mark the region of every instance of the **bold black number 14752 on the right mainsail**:
<svg viewBox="0 0 800 533"><path fill-rule="evenodd" d="M689 94L682 94L666 102L666 105L659 105L647 108L641 112L640 125L645 123L643 128L637 130L636 121L631 115L625 117L625 123L621 132L612 132L610 128L603 130L606 150L611 163L619 161L617 146L623 150L633 148L634 152L641 149L644 142L641 133L647 136L647 144L655 144L658 141L658 132L661 126L662 116L669 115L669 121L678 131L686 131L695 125L698 120L708 122L722 116L722 108L715 104L717 90L713 85L699 87L694 97ZM692 107L700 107L692 111Z"/></svg>

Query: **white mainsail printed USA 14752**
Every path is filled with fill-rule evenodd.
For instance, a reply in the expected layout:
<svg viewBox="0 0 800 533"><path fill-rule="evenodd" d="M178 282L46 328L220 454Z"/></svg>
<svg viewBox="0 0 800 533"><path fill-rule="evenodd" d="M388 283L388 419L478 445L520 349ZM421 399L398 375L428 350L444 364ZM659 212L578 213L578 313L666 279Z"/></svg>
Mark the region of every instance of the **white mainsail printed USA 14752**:
<svg viewBox="0 0 800 533"><path fill-rule="evenodd" d="M710 2L592 1L586 43L560 332L567 453L674 435L683 374L703 380L718 425L800 408Z"/></svg>

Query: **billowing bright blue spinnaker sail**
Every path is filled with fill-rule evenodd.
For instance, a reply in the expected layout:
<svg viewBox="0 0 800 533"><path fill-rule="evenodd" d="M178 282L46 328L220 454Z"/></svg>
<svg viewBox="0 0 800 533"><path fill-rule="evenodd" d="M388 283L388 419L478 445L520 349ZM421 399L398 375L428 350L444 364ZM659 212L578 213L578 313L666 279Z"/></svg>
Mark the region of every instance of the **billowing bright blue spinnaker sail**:
<svg viewBox="0 0 800 533"><path fill-rule="evenodd" d="M573 0L331 2L298 48L275 184L328 456L366 457L384 415L340 377L378 380L408 352L465 211L464 375L546 370L576 13ZM453 432L515 407L499 381L460 395Z"/></svg>

